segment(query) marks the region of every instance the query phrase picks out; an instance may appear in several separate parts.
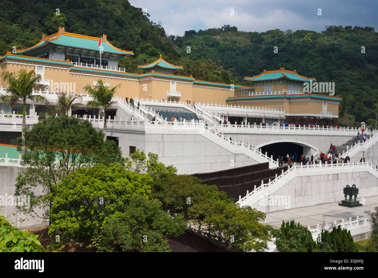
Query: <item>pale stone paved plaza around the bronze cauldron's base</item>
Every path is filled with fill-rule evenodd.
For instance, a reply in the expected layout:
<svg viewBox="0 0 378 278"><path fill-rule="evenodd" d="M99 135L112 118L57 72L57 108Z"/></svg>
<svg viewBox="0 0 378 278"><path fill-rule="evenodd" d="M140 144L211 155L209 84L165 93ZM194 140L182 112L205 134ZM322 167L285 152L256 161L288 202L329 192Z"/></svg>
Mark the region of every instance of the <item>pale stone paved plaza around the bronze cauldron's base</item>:
<svg viewBox="0 0 378 278"><path fill-rule="evenodd" d="M361 198L357 198L361 202ZM307 227L310 225L311 228L315 229L316 224L322 226L323 222L328 222L328 224L333 223L336 220L341 221L344 218L344 222L349 221L349 217L352 217L352 221L356 220L356 216L359 218L364 217L364 212L366 210L372 211L375 207L378 206L378 196L366 197L365 204L360 207L342 207L337 202L314 205L311 207L301 207L301 208L292 208L287 210L280 210L278 212L268 212L266 213L266 219L263 224L271 225L273 228L279 229L282 224L282 220L290 221L294 219L295 222L298 222Z"/></svg>

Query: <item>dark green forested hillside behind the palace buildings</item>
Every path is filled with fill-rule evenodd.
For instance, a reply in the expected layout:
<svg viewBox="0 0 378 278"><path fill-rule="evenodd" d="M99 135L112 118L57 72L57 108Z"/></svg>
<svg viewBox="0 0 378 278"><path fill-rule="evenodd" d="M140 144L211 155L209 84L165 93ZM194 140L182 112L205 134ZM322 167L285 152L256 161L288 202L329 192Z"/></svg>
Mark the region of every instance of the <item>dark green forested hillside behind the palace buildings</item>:
<svg viewBox="0 0 378 278"><path fill-rule="evenodd" d="M279 29L259 33L240 32L235 26L225 25L167 37L160 24L126 0L0 0L0 5L1 55L12 46L32 46L42 34L53 34L59 26L88 36L107 34L113 45L135 53L119 61L129 72L140 73L137 65L153 62L159 54L184 66L177 74L213 82L253 85L243 78L264 69L296 69L319 82L335 82L335 95L343 98L342 116L351 122L374 118L375 123L370 110L378 112L378 36L371 27L329 26L322 33ZM56 15L56 9L60 15ZM274 46L278 53L274 53ZM362 46L365 53L361 53Z"/></svg>

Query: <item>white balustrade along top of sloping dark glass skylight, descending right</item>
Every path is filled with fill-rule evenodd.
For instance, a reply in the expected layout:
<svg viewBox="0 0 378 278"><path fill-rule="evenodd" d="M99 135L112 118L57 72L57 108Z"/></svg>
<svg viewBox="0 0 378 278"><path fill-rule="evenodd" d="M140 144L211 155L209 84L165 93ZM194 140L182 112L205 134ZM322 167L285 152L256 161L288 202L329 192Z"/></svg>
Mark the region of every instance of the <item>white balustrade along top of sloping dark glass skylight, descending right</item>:
<svg viewBox="0 0 378 278"><path fill-rule="evenodd" d="M211 113L206 109L200 109L197 107L192 107L187 105L186 102L174 102L174 101L166 101L166 100L154 100L154 99L135 99L136 102L140 102L143 105L153 105L153 106L162 106L162 107L178 107L184 108L186 110L195 113L199 119L203 118L205 122L214 124L215 122L219 122L220 120L223 121L223 118L217 115L216 113Z"/></svg>

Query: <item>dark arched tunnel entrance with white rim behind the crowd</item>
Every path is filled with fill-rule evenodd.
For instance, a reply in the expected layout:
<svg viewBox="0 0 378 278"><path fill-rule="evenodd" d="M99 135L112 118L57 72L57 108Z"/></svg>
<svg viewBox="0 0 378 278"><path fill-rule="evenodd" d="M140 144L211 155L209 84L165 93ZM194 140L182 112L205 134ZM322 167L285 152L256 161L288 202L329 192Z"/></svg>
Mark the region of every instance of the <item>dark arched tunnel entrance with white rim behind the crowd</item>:
<svg viewBox="0 0 378 278"><path fill-rule="evenodd" d="M294 155L294 162L300 162L301 156L310 157L311 154L316 156L318 154L318 149L314 146L307 144L306 142L301 141L271 141L266 142L265 144L261 144L256 148L260 148L261 152L268 154L268 156L273 156L274 160L277 160L279 156L283 156L285 162L287 162L286 154L289 154L290 157Z"/></svg>

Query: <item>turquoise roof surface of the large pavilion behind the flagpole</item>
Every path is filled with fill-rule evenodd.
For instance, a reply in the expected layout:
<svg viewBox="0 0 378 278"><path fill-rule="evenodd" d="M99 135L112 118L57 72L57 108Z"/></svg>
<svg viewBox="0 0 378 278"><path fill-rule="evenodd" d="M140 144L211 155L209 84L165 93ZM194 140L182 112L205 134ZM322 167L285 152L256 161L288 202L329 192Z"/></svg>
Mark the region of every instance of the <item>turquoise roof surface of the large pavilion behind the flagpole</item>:
<svg viewBox="0 0 378 278"><path fill-rule="evenodd" d="M95 50L95 51L99 50L98 40L91 40L91 39L85 39L85 38L74 37L74 36L60 35L56 40L48 40L48 42L53 43L55 45L70 46L73 48L90 49L90 50ZM101 46L104 48L104 52L107 52L107 53L122 54L122 55L133 54L133 53L125 53L123 51L114 49L107 42L102 42Z"/></svg>

